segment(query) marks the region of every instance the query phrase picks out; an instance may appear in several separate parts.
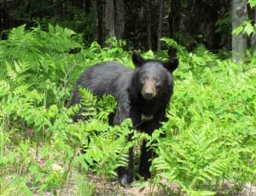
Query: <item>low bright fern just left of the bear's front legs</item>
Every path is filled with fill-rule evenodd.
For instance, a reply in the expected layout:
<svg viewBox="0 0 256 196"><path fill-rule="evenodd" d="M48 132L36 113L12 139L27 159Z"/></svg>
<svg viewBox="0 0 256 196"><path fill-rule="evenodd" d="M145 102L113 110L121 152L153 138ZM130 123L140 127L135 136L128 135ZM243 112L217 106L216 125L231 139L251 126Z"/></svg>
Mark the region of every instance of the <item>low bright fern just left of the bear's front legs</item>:
<svg viewBox="0 0 256 196"><path fill-rule="evenodd" d="M105 129L97 128L97 133L90 135L84 159L92 165L99 176L117 176L115 170L127 164L128 150L132 145L132 142L126 141L126 136L130 134L130 126L131 122L124 122L115 127L105 125Z"/></svg>

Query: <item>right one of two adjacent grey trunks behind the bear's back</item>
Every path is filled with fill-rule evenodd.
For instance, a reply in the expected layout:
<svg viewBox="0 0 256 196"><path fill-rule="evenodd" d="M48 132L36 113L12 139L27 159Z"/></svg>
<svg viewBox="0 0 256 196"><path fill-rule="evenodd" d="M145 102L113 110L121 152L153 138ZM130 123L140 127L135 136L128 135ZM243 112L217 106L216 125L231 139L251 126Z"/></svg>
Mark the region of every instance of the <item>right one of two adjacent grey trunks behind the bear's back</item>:
<svg viewBox="0 0 256 196"><path fill-rule="evenodd" d="M115 1L114 32L117 39L123 39L125 32L125 3L124 0Z"/></svg>

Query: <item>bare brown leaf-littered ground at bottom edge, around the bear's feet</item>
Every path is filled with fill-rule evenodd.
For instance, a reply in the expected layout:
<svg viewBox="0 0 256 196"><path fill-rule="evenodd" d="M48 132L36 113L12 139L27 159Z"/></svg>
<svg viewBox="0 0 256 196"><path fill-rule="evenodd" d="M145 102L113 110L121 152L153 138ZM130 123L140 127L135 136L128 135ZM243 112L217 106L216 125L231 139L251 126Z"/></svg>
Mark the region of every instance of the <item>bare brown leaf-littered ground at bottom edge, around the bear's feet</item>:
<svg viewBox="0 0 256 196"><path fill-rule="evenodd" d="M154 187L149 182L143 182L143 185L139 185L139 183L135 186L132 186L130 188L124 188L119 186L118 181L104 181L102 178L90 174L89 176L86 176L86 179L90 179L90 182L87 182L87 180L84 180L84 183L79 182L79 187L77 184L76 175L80 174L74 174L74 176L71 178L69 182L67 182L66 187L64 187L58 195L61 196L187 196L186 193L179 193L179 186L176 183L172 183L171 186L168 186L169 192L166 193L166 191L163 188ZM83 178L85 179L85 178ZM90 186L93 187L92 190L88 190L88 183L90 183ZM162 183L167 184L167 182L163 181ZM80 186L83 186L86 188L81 188ZM172 191L171 191L172 190ZM53 193L44 193L44 196L53 196ZM255 196L256 195L256 186L253 186L251 184L246 184L244 187L242 187L241 190L236 190L234 188L234 185L230 182L225 182L222 190L219 190L216 195L229 195L229 196ZM39 194L34 194L34 196L39 196Z"/></svg>

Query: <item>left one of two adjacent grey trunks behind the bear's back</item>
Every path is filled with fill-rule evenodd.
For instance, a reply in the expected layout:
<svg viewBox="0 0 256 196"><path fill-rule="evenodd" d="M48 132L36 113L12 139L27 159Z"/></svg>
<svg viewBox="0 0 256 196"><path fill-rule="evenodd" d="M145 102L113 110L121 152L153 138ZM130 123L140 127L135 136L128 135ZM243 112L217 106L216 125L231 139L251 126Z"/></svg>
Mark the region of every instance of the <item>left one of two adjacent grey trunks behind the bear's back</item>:
<svg viewBox="0 0 256 196"><path fill-rule="evenodd" d="M105 0L103 8L102 21L102 41L103 44L110 38L114 37L114 3L113 0Z"/></svg>

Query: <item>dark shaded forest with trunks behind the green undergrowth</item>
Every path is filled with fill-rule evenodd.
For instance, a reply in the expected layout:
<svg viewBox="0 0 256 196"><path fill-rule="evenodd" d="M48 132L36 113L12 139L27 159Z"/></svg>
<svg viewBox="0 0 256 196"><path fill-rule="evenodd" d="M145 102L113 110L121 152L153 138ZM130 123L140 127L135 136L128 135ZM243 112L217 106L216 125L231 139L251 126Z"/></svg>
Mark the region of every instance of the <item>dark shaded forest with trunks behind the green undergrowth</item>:
<svg viewBox="0 0 256 196"><path fill-rule="evenodd" d="M231 49L230 0L0 0L1 33L48 23L69 27L84 43L101 45L109 37L132 49L162 49L160 37L172 37L187 49ZM249 10L253 19L253 10Z"/></svg>

